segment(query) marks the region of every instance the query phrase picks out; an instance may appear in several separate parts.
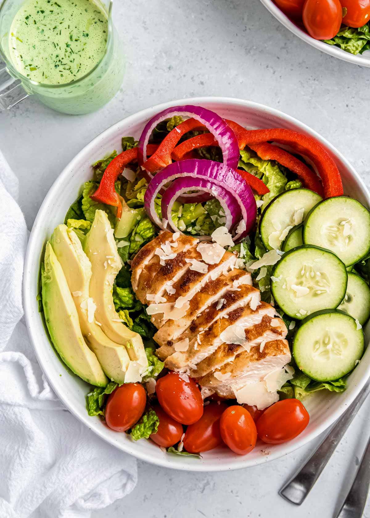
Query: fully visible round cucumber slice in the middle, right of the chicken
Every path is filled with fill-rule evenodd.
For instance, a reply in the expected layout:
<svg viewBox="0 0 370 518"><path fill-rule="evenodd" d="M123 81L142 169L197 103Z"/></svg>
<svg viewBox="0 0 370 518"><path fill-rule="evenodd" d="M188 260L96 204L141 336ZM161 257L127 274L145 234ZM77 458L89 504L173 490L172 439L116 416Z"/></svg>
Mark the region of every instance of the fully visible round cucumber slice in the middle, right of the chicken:
<svg viewBox="0 0 370 518"><path fill-rule="evenodd" d="M298 320L321 309L335 309L347 289L345 265L329 250L312 246L286 252L273 269L272 277L277 304Z"/></svg>

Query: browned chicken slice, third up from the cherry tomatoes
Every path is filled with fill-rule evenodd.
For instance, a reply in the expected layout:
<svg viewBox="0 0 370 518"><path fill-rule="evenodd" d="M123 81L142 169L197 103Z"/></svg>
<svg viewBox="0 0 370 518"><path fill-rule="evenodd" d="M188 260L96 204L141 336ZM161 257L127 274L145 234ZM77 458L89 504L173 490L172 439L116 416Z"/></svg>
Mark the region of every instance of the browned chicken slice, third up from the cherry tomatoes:
<svg viewBox="0 0 370 518"><path fill-rule="evenodd" d="M186 352L174 352L174 354L168 356L165 361L165 367L174 370L187 368L189 365L192 365L193 371L196 372L194 367L204 361L207 356L212 355L224 342L222 333L225 330L232 329L231 326L233 325L238 325L240 329L244 331L247 340L247 333L251 326L259 324L263 320L263 332L265 332L266 329L269 329L270 322L274 315L275 309L269 304L262 302L254 310L252 310L250 306L236 308L227 313L227 315L224 315L223 318L216 320L205 331L198 333L196 338L189 343L189 348ZM227 316L227 318L225 318L225 316ZM278 337L278 335L274 335L272 339L276 337ZM174 344L174 348L176 348L176 343ZM241 346L240 349L243 350ZM214 368L209 370L214 370Z"/></svg>

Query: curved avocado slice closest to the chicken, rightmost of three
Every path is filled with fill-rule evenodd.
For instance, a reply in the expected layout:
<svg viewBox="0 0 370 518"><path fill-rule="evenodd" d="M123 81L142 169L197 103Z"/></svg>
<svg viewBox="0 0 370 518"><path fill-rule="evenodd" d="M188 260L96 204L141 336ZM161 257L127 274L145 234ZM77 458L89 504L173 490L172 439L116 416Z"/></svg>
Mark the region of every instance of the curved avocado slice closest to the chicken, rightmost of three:
<svg viewBox="0 0 370 518"><path fill-rule="evenodd" d="M104 333L116 343L126 346L130 359L137 363L140 371L144 371L148 367L148 360L143 340L138 333L134 333L118 321L119 316L113 304L113 282L122 263L113 237L113 229L103 210L96 210L83 249L92 266L90 297L96 304L96 318L102 324Z"/></svg>

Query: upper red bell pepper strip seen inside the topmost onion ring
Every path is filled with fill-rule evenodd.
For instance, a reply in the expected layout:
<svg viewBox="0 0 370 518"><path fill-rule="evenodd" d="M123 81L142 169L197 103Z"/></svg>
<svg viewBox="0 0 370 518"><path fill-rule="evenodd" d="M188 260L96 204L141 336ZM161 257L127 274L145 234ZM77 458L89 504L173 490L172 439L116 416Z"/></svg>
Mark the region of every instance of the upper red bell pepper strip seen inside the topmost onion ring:
<svg viewBox="0 0 370 518"><path fill-rule="evenodd" d="M158 149L153 155L144 162L143 167L153 173L163 169L169 164L172 164L171 153L173 152L177 142L180 138L191 130L204 129L204 126L195 119L187 119L174 127L160 143Z"/></svg>

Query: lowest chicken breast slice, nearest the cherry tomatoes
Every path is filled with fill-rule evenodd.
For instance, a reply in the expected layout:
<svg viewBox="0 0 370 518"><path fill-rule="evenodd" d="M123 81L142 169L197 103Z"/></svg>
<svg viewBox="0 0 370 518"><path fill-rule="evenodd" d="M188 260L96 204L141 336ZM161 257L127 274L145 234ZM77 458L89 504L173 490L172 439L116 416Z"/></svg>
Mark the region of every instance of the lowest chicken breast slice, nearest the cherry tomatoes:
<svg viewBox="0 0 370 518"><path fill-rule="evenodd" d="M262 352L259 347L238 354L220 370L209 372L197 379L206 389L225 398L235 398L235 391L247 383L263 380L270 372L284 367L291 360L287 340L273 340L265 344ZM221 379L219 379L221 378Z"/></svg>

